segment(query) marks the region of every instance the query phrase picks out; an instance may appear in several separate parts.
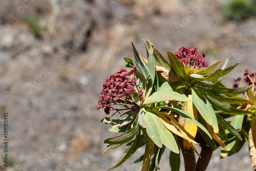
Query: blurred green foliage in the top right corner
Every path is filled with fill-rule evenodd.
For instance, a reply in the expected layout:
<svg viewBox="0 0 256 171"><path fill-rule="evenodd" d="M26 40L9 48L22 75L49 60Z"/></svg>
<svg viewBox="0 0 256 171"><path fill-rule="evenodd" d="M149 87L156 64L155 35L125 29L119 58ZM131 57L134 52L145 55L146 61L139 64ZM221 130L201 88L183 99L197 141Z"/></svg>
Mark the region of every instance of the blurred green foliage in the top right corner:
<svg viewBox="0 0 256 171"><path fill-rule="evenodd" d="M222 16L227 20L239 22L256 16L255 0L230 0L221 5Z"/></svg>

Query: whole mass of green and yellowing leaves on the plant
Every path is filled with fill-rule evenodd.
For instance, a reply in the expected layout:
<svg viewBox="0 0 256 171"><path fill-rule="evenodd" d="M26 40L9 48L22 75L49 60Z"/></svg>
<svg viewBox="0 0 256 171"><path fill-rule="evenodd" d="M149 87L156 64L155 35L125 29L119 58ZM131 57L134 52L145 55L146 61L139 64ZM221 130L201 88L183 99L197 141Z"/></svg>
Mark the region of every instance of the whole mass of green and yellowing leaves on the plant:
<svg viewBox="0 0 256 171"><path fill-rule="evenodd" d="M170 167L179 170L178 136L183 138L182 146L193 148L196 154L194 144L199 144L198 136L213 150L221 146L221 157L235 154L245 142L249 143L250 127L256 132L256 119L251 118L256 113L255 93L248 94L252 100L239 95L250 92L253 86L227 88L221 83L238 62L227 67L226 60L220 69L216 68L221 61L207 68L189 68L183 67L172 52L167 52L169 61L165 60L148 40L147 59L140 56L133 43L132 47L134 58L125 57L123 61L127 71L137 67L136 87L141 88L143 95L132 95L138 109L126 110L120 115L123 118L101 120L113 125L110 131L122 133L104 140L109 144L106 151L123 144L129 146L123 159L111 169L144 146L144 155L136 160L142 161L141 170L160 169L165 147L170 150Z"/></svg>

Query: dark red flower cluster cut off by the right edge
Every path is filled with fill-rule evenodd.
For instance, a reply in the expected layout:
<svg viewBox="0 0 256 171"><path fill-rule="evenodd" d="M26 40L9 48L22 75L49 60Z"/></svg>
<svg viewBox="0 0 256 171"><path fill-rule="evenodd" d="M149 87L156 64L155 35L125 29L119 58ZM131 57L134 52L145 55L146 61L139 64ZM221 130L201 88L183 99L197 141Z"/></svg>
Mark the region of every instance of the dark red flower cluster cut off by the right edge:
<svg viewBox="0 0 256 171"><path fill-rule="evenodd" d="M256 89L256 73L249 74L249 70L247 68L244 71L244 82L246 83L246 86L252 85L254 89ZM243 86L243 84L241 83L241 77L235 78L234 81L236 83L233 84L233 88L237 88L238 84L240 84L240 86Z"/></svg>

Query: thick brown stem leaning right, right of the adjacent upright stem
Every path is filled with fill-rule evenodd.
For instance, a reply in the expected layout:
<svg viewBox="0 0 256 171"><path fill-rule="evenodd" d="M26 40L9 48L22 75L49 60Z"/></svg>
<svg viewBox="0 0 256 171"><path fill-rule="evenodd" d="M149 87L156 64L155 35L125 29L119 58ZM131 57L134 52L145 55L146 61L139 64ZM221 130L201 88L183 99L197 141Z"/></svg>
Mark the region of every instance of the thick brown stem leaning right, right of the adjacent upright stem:
<svg viewBox="0 0 256 171"><path fill-rule="evenodd" d="M206 170L212 155L212 149L205 142L200 143L200 146L202 148L200 153L201 158L198 158L196 171Z"/></svg>

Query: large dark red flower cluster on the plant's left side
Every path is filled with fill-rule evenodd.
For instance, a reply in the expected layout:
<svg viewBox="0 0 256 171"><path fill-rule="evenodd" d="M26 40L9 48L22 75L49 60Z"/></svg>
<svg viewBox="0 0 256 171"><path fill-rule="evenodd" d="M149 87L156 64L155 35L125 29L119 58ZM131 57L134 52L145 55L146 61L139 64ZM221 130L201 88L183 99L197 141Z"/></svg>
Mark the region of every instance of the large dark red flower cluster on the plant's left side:
<svg viewBox="0 0 256 171"><path fill-rule="evenodd" d="M117 112L123 110L114 108L113 105L123 105L125 108L136 106L131 95L132 92L136 92L135 88L137 88L137 79L132 77L136 70L136 66L130 72L121 68L119 72L106 78L105 82L103 82L96 108L105 108L105 113L110 114L112 110ZM138 90L138 88L136 93L138 93L138 96L142 96L143 94L142 90Z"/></svg>

